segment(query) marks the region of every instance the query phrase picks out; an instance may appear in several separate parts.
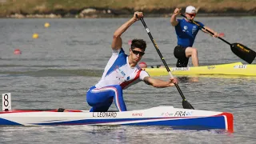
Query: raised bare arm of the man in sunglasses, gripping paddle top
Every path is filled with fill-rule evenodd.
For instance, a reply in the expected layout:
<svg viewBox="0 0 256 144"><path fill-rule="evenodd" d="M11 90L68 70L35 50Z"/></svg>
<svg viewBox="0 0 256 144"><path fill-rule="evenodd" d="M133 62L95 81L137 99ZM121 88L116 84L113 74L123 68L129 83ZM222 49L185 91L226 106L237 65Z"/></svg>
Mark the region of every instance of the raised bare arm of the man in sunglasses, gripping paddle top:
<svg viewBox="0 0 256 144"><path fill-rule="evenodd" d="M136 14L138 15L138 18L136 17ZM122 33L124 33L134 22L138 21L139 18L142 18L142 17L143 17L142 12L138 12L138 11L134 12L133 18L130 18L130 20L122 24L122 26L120 26L118 30L115 30L112 45L111 45L113 50L118 50L122 48L122 38L121 38Z"/></svg>

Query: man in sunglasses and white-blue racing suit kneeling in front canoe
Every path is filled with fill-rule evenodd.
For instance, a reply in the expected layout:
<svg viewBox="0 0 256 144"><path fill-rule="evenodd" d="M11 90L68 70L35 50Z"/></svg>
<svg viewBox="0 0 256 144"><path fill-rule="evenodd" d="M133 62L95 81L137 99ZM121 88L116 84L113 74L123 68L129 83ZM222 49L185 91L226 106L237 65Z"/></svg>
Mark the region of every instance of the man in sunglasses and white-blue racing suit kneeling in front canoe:
<svg viewBox="0 0 256 144"><path fill-rule="evenodd" d="M138 18L136 18L136 14ZM144 40L134 39L129 55L126 55L122 49L122 33L142 17L142 12L135 12L133 18L114 32L112 56L106 64L101 80L95 86L90 87L86 94L86 100L92 106L90 112L107 111L113 100L119 111L126 111L122 90L140 81L159 88L174 86L174 83L178 83L177 78L170 78L168 82L150 78L149 74L138 66L142 55L145 54L146 42Z"/></svg>

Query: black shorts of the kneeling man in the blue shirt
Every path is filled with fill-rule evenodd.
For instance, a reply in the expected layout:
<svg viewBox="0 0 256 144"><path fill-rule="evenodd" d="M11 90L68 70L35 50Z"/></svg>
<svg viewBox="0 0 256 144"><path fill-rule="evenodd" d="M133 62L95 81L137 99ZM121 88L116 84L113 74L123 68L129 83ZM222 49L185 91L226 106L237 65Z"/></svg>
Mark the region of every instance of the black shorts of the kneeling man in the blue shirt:
<svg viewBox="0 0 256 144"><path fill-rule="evenodd" d="M174 48L174 57L178 59L176 63L176 67L186 67L189 58L186 58L186 47L183 46L176 46Z"/></svg>

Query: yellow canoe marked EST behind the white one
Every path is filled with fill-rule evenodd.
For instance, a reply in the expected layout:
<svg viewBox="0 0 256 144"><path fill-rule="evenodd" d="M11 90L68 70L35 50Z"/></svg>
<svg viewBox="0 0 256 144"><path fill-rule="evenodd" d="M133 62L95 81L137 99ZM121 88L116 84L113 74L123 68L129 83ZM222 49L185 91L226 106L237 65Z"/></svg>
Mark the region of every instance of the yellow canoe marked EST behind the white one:
<svg viewBox="0 0 256 144"><path fill-rule="evenodd" d="M146 68L150 76L169 75L166 68ZM242 62L234 62L229 64L219 64L212 66L198 67L170 67L170 71L174 75L200 75L200 74L225 74L225 75L244 75L256 76L255 64L242 64Z"/></svg>

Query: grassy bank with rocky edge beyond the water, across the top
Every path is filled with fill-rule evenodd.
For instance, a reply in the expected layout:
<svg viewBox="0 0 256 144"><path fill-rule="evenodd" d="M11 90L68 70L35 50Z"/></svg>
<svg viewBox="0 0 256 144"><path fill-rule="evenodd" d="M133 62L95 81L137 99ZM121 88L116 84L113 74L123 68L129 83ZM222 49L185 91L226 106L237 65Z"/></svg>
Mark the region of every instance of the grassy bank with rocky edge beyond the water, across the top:
<svg viewBox="0 0 256 144"><path fill-rule="evenodd" d="M176 7L194 6L198 16L256 16L255 0L0 0L0 18L169 17Z"/></svg>

